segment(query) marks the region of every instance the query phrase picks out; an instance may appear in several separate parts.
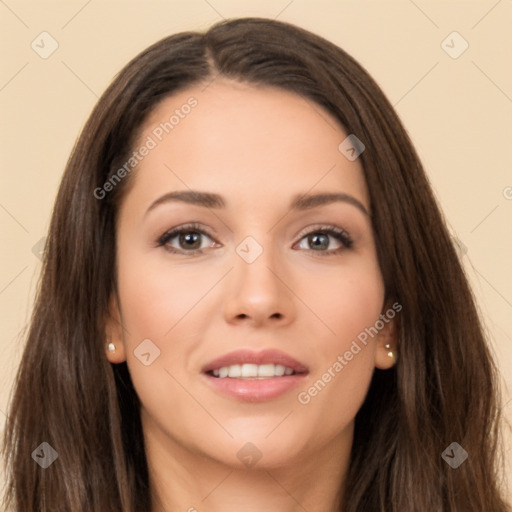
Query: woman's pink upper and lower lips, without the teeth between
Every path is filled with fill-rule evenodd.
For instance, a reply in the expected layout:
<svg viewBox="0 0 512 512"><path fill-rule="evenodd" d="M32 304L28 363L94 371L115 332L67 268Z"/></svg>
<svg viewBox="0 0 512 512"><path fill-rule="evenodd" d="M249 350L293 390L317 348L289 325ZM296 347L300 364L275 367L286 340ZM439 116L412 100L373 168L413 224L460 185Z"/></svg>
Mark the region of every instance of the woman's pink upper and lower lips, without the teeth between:
<svg viewBox="0 0 512 512"><path fill-rule="evenodd" d="M265 379L218 378L209 374L212 370L233 364L281 364L291 368L294 375ZM203 377L216 392L243 402L265 402L278 398L304 383L308 367L280 350L236 350L209 362L202 368Z"/></svg>

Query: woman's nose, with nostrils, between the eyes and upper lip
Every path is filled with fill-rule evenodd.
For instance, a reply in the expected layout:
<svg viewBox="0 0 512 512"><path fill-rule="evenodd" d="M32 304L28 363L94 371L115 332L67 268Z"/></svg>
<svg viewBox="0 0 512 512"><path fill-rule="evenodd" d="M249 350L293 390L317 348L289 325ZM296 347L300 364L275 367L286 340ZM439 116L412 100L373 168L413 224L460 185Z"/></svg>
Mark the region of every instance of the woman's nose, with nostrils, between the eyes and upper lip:
<svg viewBox="0 0 512 512"><path fill-rule="evenodd" d="M275 251L274 251L275 252ZM234 254L227 277L225 318L228 323L285 326L295 315L293 283L269 248L252 262Z"/></svg>

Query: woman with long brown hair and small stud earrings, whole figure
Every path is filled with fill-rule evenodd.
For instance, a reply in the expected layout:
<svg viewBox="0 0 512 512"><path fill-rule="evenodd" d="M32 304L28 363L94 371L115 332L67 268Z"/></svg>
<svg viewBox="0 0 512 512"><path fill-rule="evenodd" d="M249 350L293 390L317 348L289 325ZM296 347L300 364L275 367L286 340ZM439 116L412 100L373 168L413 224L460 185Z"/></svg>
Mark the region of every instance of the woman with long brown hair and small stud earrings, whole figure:
<svg viewBox="0 0 512 512"><path fill-rule="evenodd" d="M495 511L497 370L411 142L343 50L154 44L57 197L6 506Z"/></svg>

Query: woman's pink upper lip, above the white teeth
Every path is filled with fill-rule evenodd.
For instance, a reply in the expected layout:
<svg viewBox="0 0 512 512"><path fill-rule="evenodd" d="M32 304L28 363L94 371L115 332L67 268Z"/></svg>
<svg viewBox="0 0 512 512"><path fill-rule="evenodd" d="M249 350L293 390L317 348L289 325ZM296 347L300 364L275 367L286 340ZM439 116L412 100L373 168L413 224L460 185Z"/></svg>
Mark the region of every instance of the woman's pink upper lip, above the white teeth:
<svg viewBox="0 0 512 512"><path fill-rule="evenodd" d="M295 371L295 373L308 373L308 367L280 350L267 349L255 352L253 350L235 350L213 361L202 368L202 372L210 372L224 366L234 364L280 364Z"/></svg>

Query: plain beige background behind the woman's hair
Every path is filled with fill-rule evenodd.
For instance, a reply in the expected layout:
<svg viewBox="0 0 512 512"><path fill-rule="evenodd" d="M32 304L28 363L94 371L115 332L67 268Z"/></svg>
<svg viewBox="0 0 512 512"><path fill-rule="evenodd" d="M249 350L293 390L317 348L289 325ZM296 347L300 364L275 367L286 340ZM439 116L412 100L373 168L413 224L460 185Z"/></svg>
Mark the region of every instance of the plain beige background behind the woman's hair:
<svg viewBox="0 0 512 512"><path fill-rule="evenodd" d="M512 419L510 0L5 0L0 425L40 271L37 243L48 228L67 157L97 98L129 59L158 39L206 29L222 17L250 15L296 23L340 45L395 105L463 244L461 257L492 338L504 409ZM43 31L59 45L46 59L31 47L35 41L41 48L45 37L50 48L48 36L39 37ZM452 35L442 45L453 31L463 39ZM452 58L449 53L463 49L464 41L467 50ZM507 442L512 480L510 435Z"/></svg>

